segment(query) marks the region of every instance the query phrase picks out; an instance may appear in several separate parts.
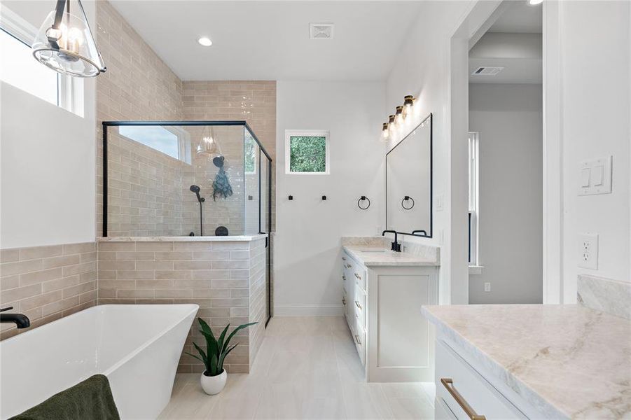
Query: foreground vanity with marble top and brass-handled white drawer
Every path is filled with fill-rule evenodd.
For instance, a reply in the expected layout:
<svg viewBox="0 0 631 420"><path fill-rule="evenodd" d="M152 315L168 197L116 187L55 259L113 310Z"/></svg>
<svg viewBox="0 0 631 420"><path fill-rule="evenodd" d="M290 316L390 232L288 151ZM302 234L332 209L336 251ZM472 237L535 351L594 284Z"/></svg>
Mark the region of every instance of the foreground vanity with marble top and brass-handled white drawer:
<svg viewBox="0 0 631 420"><path fill-rule="evenodd" d="M627 319L579 304L422 312L436 325L436 419L613 419L630 412Z"/></svg>

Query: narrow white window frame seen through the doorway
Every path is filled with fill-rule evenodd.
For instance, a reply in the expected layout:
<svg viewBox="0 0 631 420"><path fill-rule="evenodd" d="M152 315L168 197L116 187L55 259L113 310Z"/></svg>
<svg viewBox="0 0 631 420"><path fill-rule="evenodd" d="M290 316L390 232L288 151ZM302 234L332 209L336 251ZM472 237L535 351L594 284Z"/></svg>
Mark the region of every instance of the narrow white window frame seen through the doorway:
<svg viewBox="0 0 631 420"><path fill-rule="evenodd" d="M479 162L479 133L469 132L469 213L471 214L471 260L469 265L479 266L478 243L480 220L480 162Z"/></svg>

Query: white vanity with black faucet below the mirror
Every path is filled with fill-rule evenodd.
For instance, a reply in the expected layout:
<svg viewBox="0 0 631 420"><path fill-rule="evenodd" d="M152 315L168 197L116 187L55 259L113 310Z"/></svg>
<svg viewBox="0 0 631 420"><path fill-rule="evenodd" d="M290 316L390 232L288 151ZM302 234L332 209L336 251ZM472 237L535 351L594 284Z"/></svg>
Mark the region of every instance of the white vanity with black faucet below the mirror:
<svg viewBox="0 0 631 420"><path fill-rule="evenodd" d="M425 248L342 246L342 305L369 382L433 380L433 337L419 308L438 302L439 255Z"/></svg>

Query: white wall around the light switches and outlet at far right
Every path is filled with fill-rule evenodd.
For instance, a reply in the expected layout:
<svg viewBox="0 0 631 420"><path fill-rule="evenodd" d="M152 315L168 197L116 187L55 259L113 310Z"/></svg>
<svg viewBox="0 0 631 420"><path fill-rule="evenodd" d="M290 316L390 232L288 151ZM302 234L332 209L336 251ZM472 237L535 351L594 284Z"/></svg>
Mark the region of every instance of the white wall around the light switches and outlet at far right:
<svg viewBox="0 0 631 420"><path fill-rule="evenodd" d="M576 277L630 277L631 3L559 4L562 55L562 278L564 302ZM578 197L578 162L613 155L613 193ZM599 235L597 271L578 268L578 234Z"/></svg>

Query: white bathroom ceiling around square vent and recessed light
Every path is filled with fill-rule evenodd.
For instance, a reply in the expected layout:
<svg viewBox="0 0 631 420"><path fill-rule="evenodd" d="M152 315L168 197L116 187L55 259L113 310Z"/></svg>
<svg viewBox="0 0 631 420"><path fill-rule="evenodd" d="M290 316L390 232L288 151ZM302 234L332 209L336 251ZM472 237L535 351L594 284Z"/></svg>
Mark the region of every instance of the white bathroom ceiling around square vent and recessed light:
<svg viewBox="0 0 631 420"><path fill-rule="evenodd" d="M420 1L111 0L182 80L384 80ZM310 22L333 22L311 40ZM209 36L212 47L197 43Z"/></svg>

